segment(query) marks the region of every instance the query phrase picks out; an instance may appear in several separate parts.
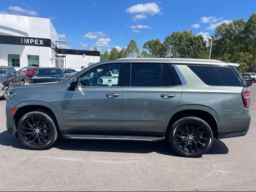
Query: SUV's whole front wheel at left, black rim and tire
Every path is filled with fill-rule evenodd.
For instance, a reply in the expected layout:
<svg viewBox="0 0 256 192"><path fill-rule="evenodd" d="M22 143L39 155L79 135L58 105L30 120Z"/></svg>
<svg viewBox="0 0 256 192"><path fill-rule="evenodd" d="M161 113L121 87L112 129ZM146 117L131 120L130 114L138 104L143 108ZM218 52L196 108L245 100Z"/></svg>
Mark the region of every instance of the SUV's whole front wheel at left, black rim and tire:
<svg viewBox="0 0 256 192"><path fill-rule="evenodd" d="M20 142L31 150L47 149L59 136L56 120L45 111L25 114L18 123L17 132Z"/></svg>

